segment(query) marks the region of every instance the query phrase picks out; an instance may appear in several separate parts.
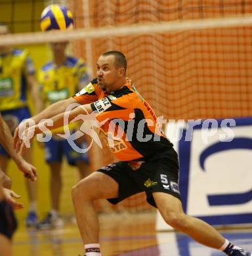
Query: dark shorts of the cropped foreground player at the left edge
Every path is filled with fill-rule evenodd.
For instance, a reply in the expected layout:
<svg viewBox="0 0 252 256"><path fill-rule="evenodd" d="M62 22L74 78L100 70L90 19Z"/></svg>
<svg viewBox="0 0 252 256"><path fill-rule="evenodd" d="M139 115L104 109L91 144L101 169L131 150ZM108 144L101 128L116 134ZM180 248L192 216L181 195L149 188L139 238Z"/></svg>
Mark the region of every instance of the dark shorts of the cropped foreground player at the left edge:
<svg viewBox="0 0 252 256"><path fill-rule="evenodd" d="M0 233L11 240L16 230L16 217L13 209L5 200L0 202Z"/></svg>

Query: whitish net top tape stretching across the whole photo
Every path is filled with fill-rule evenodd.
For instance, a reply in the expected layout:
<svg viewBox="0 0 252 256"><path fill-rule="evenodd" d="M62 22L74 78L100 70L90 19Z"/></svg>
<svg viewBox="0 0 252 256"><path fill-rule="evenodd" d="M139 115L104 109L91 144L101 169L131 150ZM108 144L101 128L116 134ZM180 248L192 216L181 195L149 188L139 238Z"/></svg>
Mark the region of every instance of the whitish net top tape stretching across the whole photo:
<svg viewBox="0 0 252 256"><path fill-rule="evenodd" d="M52 41L72 41L76 39L95 39L127 35L148 35L152 33L172 33L211 28L231 28L252 25L252 14L225 16L223 18L204 18L172 22L135 24L130 26L105 26L102 28L81 28L72 31L51 31L15 33L0 35L0 45L20 45L49 43ZM1 26L0 26L1 32ZM46 33L46 36L45 36Z"/></svg>

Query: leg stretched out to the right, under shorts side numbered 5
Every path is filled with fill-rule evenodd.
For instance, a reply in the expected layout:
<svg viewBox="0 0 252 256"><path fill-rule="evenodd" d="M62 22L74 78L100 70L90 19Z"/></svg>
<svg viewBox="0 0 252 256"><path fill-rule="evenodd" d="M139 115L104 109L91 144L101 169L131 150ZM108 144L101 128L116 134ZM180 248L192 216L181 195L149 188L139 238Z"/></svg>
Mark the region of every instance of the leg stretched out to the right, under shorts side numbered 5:
<svg viewBox="0 0 252 256"><path fill-rule="evenodd" d="M148 202L158 207L159 212L167 224L173 228L188 234L200 244L225 251L228 255L232 249L239 250L226 240L215 228L200 219L186 215L180 202L178 186L178 162L175 152L169 152L171 157L167 157L156 163L156 171L152 172L152 165L146 170L150 175L153 186L146 190ZM241 249L242 250L242 249ZM245 252L246 253L246 252ZM250 254L233 255L249 256Z"/></svg>

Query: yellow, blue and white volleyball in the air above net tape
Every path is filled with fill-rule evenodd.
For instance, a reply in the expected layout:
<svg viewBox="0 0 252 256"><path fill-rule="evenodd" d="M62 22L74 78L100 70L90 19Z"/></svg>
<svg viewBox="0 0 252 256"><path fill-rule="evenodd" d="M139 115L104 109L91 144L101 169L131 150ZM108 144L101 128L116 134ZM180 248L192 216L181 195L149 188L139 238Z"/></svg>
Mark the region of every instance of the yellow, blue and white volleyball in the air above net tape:
<svg viewBox="0 0 252 256"><path fill-rule="evenodd" d="M41 30L67 30L73 27L72 12L63 5L49 5L41 13Z"/></svg>

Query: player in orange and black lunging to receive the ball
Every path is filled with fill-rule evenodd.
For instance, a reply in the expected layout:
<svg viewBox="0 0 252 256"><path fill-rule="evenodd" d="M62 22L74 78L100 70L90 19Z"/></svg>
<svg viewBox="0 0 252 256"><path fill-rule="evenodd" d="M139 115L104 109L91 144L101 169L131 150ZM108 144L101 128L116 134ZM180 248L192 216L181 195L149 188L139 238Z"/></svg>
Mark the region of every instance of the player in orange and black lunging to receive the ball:
<svg viewBox="0 0 252 256"><path fill-rule="evenodd" d="M98 121L105 121L100 127L101 135L108 135L112 127L117 134L121 133L119 138L108 136L110 148L120 161L98 169L72 189L85 255L102 255L98 242L98 216L93 202L106 198L111 203L118 203L144 191L147 202L157 207L173 228L227 255L251 256L251 253L231 244L209 224L184 213L178 186L177 153L173 144L156 129L154 110L136 91L131 79L126 77L126 70L127 60L122 53L104 53L97 61L97 78L85 89L32 117L35 123L51 117L54 124L48 128L54 129L64 123L66 107L79 102L81 106L67 113L69 121L79 114L95 112ZM40 132L38 125L32 129L35 129L35 134ZM22 150L24 141L18 138L18 130L14 137L15 146L16 150Z"/></svg>

